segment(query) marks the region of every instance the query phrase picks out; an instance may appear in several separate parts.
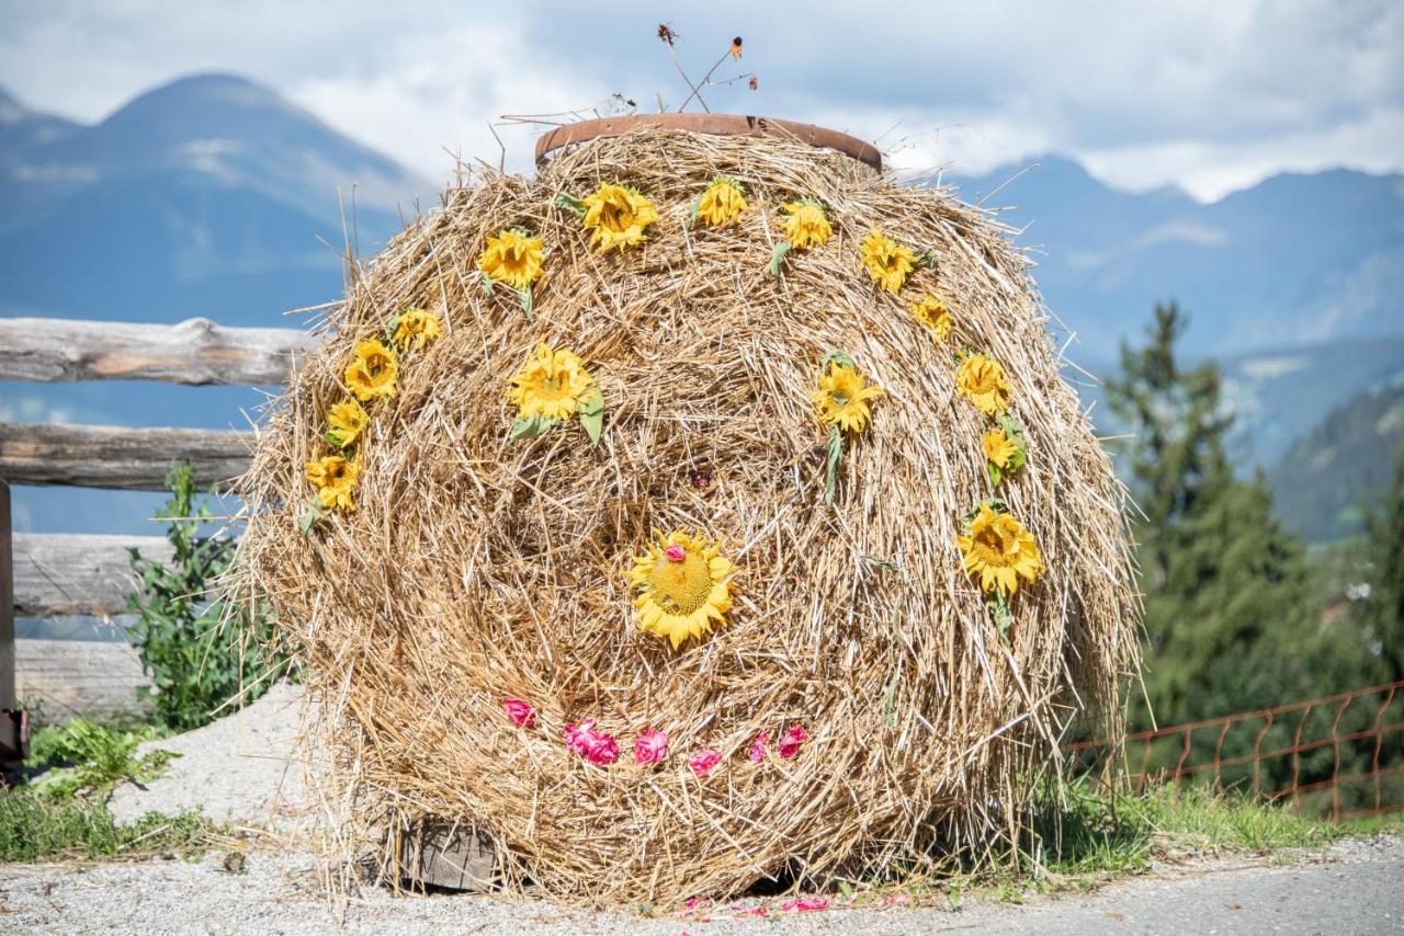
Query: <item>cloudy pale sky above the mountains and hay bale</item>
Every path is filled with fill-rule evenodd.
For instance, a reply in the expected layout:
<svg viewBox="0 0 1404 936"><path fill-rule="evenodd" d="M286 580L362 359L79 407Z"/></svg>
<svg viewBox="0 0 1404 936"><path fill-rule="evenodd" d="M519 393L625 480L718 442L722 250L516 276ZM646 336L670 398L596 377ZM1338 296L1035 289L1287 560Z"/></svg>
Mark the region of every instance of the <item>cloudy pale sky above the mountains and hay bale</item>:
<svg viewBox="0 0 1404 936"><path fill-rule="evenodd" d="M1212 199L1282 170L1404 170L1404 3L336 4L0 0L0 86L98 121L194 72L234 72L442 180L445 149L496 161L503 114L674 108L733 35L746 58L716 111L876 139L901 168L980 173L1073 154L1125 188ZM661 11L661 13L660 13ZM508 164L532 131L503 128Z"/></svg>

